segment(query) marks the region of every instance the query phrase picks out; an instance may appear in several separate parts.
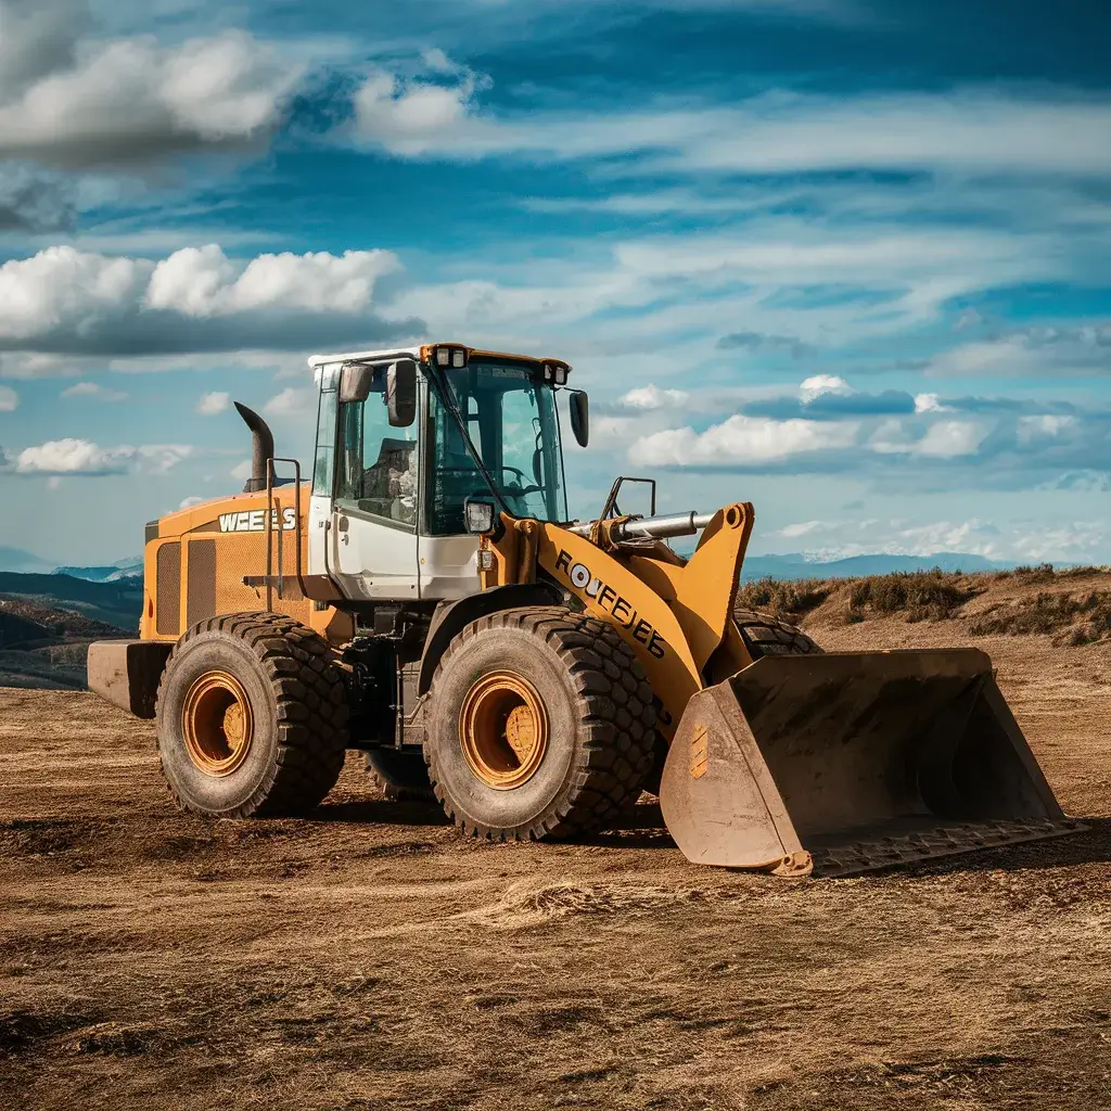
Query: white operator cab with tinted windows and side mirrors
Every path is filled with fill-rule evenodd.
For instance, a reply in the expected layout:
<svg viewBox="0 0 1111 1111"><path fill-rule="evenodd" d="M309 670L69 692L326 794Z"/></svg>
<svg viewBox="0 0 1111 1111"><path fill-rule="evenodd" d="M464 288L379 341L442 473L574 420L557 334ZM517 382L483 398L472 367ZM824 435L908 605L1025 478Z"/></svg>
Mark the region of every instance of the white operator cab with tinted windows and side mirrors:
<svg viewBox="0 0 1111 1111"><path fill-rule="evenodd" d="M479 589L474 520L562 523L559 360L458 343L313 356L319 389L309 573L352 600L450 600ZM570 394L588 439L587 397ZM489 508L487 508L489 507Z"/></svg>

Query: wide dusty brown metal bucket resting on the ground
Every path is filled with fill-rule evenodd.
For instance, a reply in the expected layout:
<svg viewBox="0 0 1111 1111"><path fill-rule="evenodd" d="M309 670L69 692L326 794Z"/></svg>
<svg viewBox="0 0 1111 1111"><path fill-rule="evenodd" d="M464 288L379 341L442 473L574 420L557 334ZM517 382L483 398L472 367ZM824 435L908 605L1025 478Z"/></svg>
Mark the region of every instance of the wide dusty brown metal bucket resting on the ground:
<svg viewBox="0 0 1111 1111"><path fill-rule="evenodd" d="M695 694L660 805L688 859L851 875L1078 829L977 649L767 657Z"/></svg>

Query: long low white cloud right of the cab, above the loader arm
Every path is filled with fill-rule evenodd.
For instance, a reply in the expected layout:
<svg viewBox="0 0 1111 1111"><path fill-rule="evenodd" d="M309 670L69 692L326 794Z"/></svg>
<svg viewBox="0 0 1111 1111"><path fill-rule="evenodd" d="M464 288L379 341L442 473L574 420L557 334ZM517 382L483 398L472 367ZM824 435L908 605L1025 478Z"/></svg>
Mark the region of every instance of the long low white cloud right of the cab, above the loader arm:
<svg viewBox="0 0 1111 1111"><path fill-rule="evenodd" d="M643 437L629 449L629 460L658 467L779 462L804 452L852 447L858 429L855 423L777 421L735 413L704 432L679 428Z"/></svg>

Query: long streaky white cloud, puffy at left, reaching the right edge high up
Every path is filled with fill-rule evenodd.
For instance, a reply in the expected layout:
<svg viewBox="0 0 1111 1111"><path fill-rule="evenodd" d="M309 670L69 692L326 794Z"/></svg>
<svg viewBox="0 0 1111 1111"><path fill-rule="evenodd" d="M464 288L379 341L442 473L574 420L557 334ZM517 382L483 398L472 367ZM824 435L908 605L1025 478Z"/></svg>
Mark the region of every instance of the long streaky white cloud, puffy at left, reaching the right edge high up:
<svg viewBox="0 0 1111 1111"><path fill-rule="evenodd" d="M739 106L632 111L483 111L481 80L376 71L356 96L357 134L392 153L530 161L650 156L684 174L818 170L1111 173L1111 102L1059 92L958 88L823 97L772 91Z"/></svg>

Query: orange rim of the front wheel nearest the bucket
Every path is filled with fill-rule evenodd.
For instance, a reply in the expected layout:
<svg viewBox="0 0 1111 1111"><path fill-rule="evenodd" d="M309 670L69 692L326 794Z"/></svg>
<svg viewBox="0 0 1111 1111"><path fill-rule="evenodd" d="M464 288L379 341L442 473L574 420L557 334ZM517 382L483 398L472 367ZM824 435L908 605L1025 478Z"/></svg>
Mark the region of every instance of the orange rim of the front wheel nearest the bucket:
<svg viewBox="0 0 1111 1111"><path fill-rule="evenodd" d="M509 671L471 685L459 713L463 755L476 778L511 791L537 773L548 751L548 711L536 688Z"/></svg>

